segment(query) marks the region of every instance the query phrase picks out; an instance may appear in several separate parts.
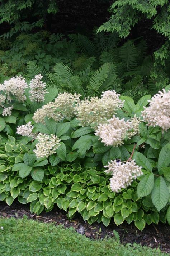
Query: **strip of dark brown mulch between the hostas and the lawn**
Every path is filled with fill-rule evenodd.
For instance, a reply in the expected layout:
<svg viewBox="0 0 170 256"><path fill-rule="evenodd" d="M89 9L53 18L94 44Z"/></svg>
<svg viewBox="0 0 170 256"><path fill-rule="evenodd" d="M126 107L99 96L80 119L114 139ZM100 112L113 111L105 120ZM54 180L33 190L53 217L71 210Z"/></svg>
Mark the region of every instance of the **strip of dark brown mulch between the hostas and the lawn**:
<svg viewBox="0 0 170 256"><path fill-rule="evenodd" d="M43 211L39 216L32 214L29 205L22 205L13 202L8 206L0 201L0 216L22 218L27 215L29 219L43 221L44 223L54 223L63 225L65 228L73 227L78 233L86 235L91 239L104 239L105 237L114 237L113 230L119 233L121 243L139 243L142 246L150 248L160 248L162 252L170 253L170 226L160 223L159 225L146 225L145 229L140 231L133 224L121 224L116 226L114 223L107 228L103 224L93 223L89 225L77 214L74 219L69 220L66 212L60 210L57 206L50 212Z"/></svg>

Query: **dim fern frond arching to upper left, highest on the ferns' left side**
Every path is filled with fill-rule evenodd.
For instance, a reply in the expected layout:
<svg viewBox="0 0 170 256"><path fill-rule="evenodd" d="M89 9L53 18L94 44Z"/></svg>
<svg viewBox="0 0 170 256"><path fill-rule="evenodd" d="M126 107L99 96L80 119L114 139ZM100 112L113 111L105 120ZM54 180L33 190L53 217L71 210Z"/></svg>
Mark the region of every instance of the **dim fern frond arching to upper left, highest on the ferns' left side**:
<svg viewBox="0 0 170 256"><path fill-rule="evenodd" d="M94 43L84 35L70 35L70 38L75 42L75 45L87 56L95 56Z"/></svg>

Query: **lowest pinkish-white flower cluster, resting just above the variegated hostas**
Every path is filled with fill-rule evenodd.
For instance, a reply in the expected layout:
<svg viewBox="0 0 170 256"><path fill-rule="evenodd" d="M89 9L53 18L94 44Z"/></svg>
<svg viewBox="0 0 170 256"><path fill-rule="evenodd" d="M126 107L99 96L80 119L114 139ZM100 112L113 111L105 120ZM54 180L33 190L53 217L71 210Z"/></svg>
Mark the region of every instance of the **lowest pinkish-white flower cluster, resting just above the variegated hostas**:
<svg viewBox="0 0 170 256"><path fill-rule="evenodd" d="M104 167L108 168L105 172L112 174L112 178L110 178L110 188L114 192L119 192L121 188L128 187L134 179L143 174L141 171L142 167L136 165L134 160L126 163L111 160L111 162L108 162L108 165Z"/></svg>

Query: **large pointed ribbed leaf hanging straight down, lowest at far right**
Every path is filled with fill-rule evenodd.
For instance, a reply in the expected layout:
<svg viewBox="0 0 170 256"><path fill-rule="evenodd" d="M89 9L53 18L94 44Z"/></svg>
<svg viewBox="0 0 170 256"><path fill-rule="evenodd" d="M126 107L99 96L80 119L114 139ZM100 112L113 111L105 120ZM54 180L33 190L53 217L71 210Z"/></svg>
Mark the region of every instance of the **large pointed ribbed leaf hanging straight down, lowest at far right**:
<svg viewBox="0 0 170 256"><path fill-rule="evenodd" d="M152 190L152 203L158 211L160 211L169 201L169 189L163 177L159 177L154 182Z"/></svg>

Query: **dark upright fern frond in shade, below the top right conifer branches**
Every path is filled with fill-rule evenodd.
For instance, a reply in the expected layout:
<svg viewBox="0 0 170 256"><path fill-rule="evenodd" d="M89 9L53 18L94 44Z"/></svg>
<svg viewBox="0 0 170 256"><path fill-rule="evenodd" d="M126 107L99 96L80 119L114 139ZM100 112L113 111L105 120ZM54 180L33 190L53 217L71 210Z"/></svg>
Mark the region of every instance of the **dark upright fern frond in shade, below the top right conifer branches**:
<svg viewBox="0 0 170 256"><path fill-rule="evenodd" d="M126 42L120 50L122 73L132 71L137 66L137 50L132 41Z"/></svg>

